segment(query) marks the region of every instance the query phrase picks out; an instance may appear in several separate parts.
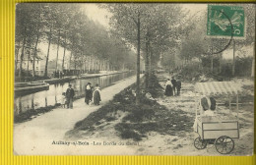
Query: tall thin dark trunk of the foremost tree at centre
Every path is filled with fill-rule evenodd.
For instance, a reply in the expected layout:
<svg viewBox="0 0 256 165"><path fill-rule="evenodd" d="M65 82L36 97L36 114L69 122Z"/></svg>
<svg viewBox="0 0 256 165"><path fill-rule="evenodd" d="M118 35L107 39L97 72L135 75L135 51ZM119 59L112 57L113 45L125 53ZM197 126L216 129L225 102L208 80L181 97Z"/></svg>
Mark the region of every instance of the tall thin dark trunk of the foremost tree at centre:
<svg viewBox="0 0 256 165"><path fill-rule="evenodd" d="M138 23L137 23L137 80L136 80L136 105L140 104L140 58L141 58L141 21L140 21L140 13L138 14Z"/></svg>

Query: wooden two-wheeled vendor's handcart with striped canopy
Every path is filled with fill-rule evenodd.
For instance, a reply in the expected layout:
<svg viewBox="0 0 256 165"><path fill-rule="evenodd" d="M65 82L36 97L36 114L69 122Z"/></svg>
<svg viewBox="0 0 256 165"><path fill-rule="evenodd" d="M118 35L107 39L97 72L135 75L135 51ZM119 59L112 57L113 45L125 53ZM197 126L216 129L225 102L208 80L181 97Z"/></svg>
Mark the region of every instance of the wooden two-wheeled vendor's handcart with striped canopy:
<svg viewBox="0 0 256 165"><path fill-rule="evenodd" d="M195 90L198 92L196 97L196 119L195 131L199 135L194 140L194 146L197 149L206 148L207 144L215 145L216 150L221 154L228 154L234 148L234 138L239 138L239 123L238 123L238 91L239 87L231 82L211 82L211 83L196 83ZM229 113L226 116L219 114L218 106L215 110L215 115L202 115L202 106L200 98L204 96L215 95L228 96ZM236 113L231 112L230 96L236 96ZM221 103L219 103L221 104ZM218 104L217 104L218 105ZM227 109L227 108L226 108ZM229 115L228 115L229 114Z"/></svg>

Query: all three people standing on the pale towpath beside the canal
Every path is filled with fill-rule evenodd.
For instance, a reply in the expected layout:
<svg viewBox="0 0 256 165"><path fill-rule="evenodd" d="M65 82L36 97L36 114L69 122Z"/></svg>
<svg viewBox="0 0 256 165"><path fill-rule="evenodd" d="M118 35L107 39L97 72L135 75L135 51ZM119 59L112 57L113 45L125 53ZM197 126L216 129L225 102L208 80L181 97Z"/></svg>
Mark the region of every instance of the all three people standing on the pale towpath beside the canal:
<svg viewBox="0 0 256 165"><path fill-rule="evenodd" d="M73 99L75 96L75 90L72 87L72 84L69 84L66 92L62 93L62 105L65 108L73 108ZM99 105L100 98L100 87L96 84L96 87L92 86L92 83L87 83L86 85L86 97L85 102L89 105L94 103L95 105Z"/></svg>

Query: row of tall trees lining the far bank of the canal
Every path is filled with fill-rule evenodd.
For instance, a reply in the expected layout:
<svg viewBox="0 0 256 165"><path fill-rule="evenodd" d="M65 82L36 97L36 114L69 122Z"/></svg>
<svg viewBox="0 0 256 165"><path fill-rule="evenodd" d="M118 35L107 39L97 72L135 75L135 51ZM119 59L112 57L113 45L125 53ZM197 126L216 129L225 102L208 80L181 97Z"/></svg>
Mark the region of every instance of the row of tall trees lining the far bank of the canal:
<svg viewBox="0 0 256 165"><path fill-rule="evenodd" d="M134 67L134 53L123 40L111 35L100 24L90 20L80 4L67 3L21 3L16 6L16 62L15 68L22 77L26 50L30 50L32 77L34 63L39 56L39 43L47 44L44 77L48 76L48 62L51 46L56 45L56 70L64 70L65 62L74 69L94 68L119 70ZM59 50L62 67L58 67ZM70 52L68 61L67 51ZM52 58L52 57L51 57ZM118 63L116 63L118 61ZM19 64L19 66L18 66ZM88 65L86 65L88 64Z"/></svg>

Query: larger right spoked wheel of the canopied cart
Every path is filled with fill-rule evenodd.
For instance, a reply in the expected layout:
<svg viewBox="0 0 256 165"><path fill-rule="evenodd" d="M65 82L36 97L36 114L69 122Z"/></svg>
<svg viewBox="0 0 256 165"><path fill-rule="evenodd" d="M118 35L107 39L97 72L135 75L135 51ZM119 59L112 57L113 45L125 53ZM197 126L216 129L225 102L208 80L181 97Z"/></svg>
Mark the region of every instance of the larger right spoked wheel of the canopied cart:
<svg viewBox="0 0 256 165"><path fill-rule="evenodd" d="M233 150L234 141L232 138L223 136L215 140L216 150L221 154L228 154Z"/></svg>

